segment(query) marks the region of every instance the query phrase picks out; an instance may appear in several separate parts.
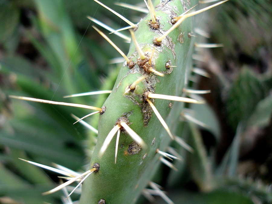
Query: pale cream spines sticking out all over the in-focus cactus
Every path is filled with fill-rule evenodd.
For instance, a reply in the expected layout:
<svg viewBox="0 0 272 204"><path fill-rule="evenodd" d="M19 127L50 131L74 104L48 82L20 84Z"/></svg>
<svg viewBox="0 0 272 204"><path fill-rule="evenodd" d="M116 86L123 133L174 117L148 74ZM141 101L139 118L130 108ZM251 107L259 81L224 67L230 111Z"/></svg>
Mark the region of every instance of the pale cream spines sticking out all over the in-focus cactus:
<svg viewBox="0 0 272 204"><path fill-rule="evenodd" d="M129 59L129 57L127 57L125 55L125 53L123 53L104 33L102 33L102 31L100 31L98 28L96 28L95 26L93 26L93 28L99 32L99 34L102 35L102 37L104 37L121 55L122 57L125 58L126 60L126 64L128 66L129 69L132 69L135 65L135 63L138 64L139 67L143 68L144 71L145 71L145 74L138 78L136 81L134 81L133 83L131 83L131 85L129 85L125 90L124 90L124 94L128 94L129 92L133 92L136 87L137 87L137 84L142 82L143 80L145 80L149 74L155 74L157 76L160 76L160 77L164 77L164 74L161 73L161 72L158 72L156 69L154 69L154 63L152 62L152 58L153 58L153 55L154 55L154 51L155 49L153 49L153 51L151 53L144 53L142 50L141 50L141 47L139 46L138 42L137 42L137 39L134 35L134 32L137 30L138 28L138 25L137 24L133 24L131 21L128 21L126 18L124 18L123 16L121 16L120 14L118 14L117 12L113 11L112 9L108 8L107 6L105 6L104 4L102 4L101 2L97 1L97 0L94 0L95 2L99 3L100 5L102 5L103 7L107 8L109 11L113 12L115 15L117 15L118 17L120 17L122 20L124 20L125 22L127 22L130 26L128 28L131 28L129 31L131 33L131 38L125 36L125 35L122 35L122 34L119 34L118 32L114 31L114 29L112 28L109 28L108 26L106 26L105 24L102 24L100 21L97 21L96 19L93 19L91 17L88 17L89 19L91 19L92 21L96 22L97 24L101 25L102 27L108 29L109 31L111 31L112 33L115 33L115 34L118 34L120 37L122 37L123 39L125 39L126 41L130 41L131 39L133 40L134 44L135 44L135 47L138 51L138 55L139 55L139 58L137 59L136 62L133 62L131 59ZM175 17L173 19L171 19L171 22L173 23L173 26L168 30L166 31L162 36L160 37L155 37L154 40L153 40L153 43L155 46L161 46L161 42L162 40L171 32L173 31L175 28L177 28L186 18L190 17L190 16L193 16L193 15L196 15L196 14L199 14L200 12L203 12L203 11L206 11L210 8L213 8L217 5L220 5L224 2L226 2L228 0L225 0L225 1L222 1L222 2L218 2L214 5L211 5L209 7L206 7L206 8L203 8L199 11L194 11L194 12L189 12L191 9L189 9L188 11L184 12L183 14L181 14L180 16L178 17ZM145 1L146 2L146 1ZM121 4L122 5L122 4ZM150 15L151 15L151 21L150 21L150 24L152 24L152 28L154 29L157 29L159 28L160 24L159 22L157 21L156 19L156 12L155 12L155 9L151 3L151 0L148 0L146 2L146 5L147 5L147 8L150 12ZM189 36L189 34L188 34ZM193 36L193 35L190 35L190 36ZM221 44L195 44L195 47L205 47L205 48L210 48L210 47L221 47L222 45ZM168 68L170 67L170 65L168 65ZM172 66L173 67L173 66ZM196 73L201 73L201 70L197 70L195 68L194 70ZM208 76L207 74L205 73L202 73L202 75L206 75ZM184 92L186 93L197 93L197 94L203 94L203 93L208 93L209 91L198 91L198 90L192 90L192 89L183 89ZM66 96L66 97L74 97L74 96L83 96L83 95L92 95L92 94L101 94L101 93L110 93L111 91L101 91L101 92L89 92L89 93L83 93L83 94L75 94L75 95L71 95L71 96ZM72 103L64 103L64 102L54 102L54 101L48 101L48 100L42 100L42 99L34 99L34 98L29 98L29 97L21 97L21 96L10 96L12 98L17 98L17 99L22 99L22 100L28 100L28 101L34 101L34 102L43 102L43 103L49 103L49 104L55 104L55 105L68 105L68 106L74 106L74 107L80 107L80 108L88 108L88 109L92 109L92 110L96 110L96 112L92 112L86 116L84 116L83 118L78 118L76 116L73 115L74 118L76 118L76 122L81 122L83 125L85 126L88 126L89 129L91 129L92 131L98 133L98 131L93 128L92 126L90 126L89 124L87 124L86 122L82 121L82 119L88 117L88 116L91 116L91 115L94 115L94 114L103 114L105 111L106 111L106 107L102 107L102 108L98 108L98 107L93 107L93 106L89 106L89 105L81 105L81 104L72 104ZM156 107L154 106L154 104L151 102L150 99L167 99L167 100L171 100L171 101L180 101L180 102L188 102L188 103L204 103L204 101L201 101L201 100L196 100L196 99L191 99L191 98L185 98L185 97L178 97L178 96L168 96L168 95L161 95L161 94L155 94L155 93L152 93L150 91L145 91L144 94L143 94L143 100L146 101L150 107L152 108L153 112L155 113L155 115L157 116L157 118L159 119L159 121L161 122L161 124L163 125L163 127L165 128L165 130L167 131L167 133L169 134L170 138L172 140L175 140L177 143L179 143L181 146L183 146L184 148L186 148L188 151L193 151L192 148L187 145L181 138L177 137L177 136L174 136L167 123L164 121L164 119L161 117L160 113L157 111ZM200 125L200 122L197 121L197 120L194 120L194 118L192 118L191 116L189 115L186 115L185 113L183 113L183 116L188 119L188 120L191 120L191 121L194 121L195 123L198 123ZM75 122L75 123L76 123ZM117 139L116 139L116 146L115 146L115 164L117 162L117 150L118 150L118 140L119 140L119 137L120 137L120 131L123 130L123 131L126 131L130 136L131 138L136 141L138 144L140 144L143 148L146 147L146 144L145 142L141 139L141 137L136 133L134 132L130 127L129 127L129 121L128 121L128 118L126 117L120 117L120 118L117 118L116 120L116 124L115 126L112 128L112 130L108 133L108 136L106 137L99 153L100 153L100 156L102 156L104 154L104 152L106 151L108 145L110 144L110 142L112 141L112 138L114 137L114 135L117 133ZM172 154L175 153L175 151L173 149L169 149ZM156 150L156 153L157 154L160 154L161 156L159 157L160 161L164 164L166 164L167 166L169 166L170 168L173 168L175 169L175 167L173 166L173 164L171 164L168 160L164 159L164 157L172 160L172 159L180 159L180 157L176 157L176 156L173 156L171 154L168 154L168 153L165 153L163 151L160 151L159 149ZM37 165L37 163L33 163L32 164L35 164ZM44 166L40 166L40 167L43 167L45 168ZM79 174L79 175L67 175L67 174L64 174L68 177L66 177L66 179L68 178L69 181L67 181L66 183L63 183L61 184L60 186L48 191L48 192L45 192L44 194L49 194L49 193L54 193L56 192L57 190L60 190L62 189L63 187L67 186L67 185L70 185L71 183L73 183L74 181L76 180L81 180L79 182L79 185L92 173L92 172L97 172L99 170L100 166L98 163L96 163L92 169L86 171L85 173L83 174ZM50 170L53 170L53 169L50 169ZM62 173L63 172L60 172L60 171L57 171L57 170L53 170L53 171L56 171L58 173ZM85 177L84 177L85 176ZM84 177L84 178L83 178ZM78 186L79 186L78 185ZM77 186L77 187L78 187ZM150 183L150 186L153 188L153 190L156 190L157 193L159 191L159 188L157 185L155 185L154 183ZM76 187L76 188L77 188ZM76 189L75 188L75 189ZM74 189L74 190L75 190ZM71 192L73 193L74 190ZM161 191L162 192L162 191ZM70 193L70 194L71 194ZM162 192L163 193L163 192ZM70 196L70 194L68 195L68 197ZM147 195L147 193L145 192L145 194ZM149 194L151 195L150 191L149 191ZM160 193L159 193L160 194ZM162 197L164 197L164 195L161 195ZM167 203L172 203L172 201L170 201L169 198L165 198L165 200L167 201Z"/></svg>

